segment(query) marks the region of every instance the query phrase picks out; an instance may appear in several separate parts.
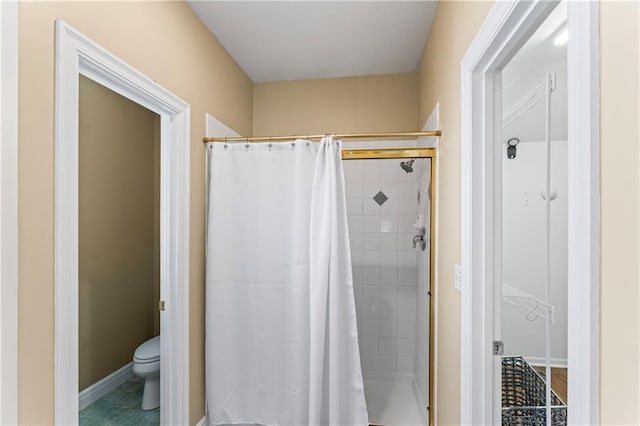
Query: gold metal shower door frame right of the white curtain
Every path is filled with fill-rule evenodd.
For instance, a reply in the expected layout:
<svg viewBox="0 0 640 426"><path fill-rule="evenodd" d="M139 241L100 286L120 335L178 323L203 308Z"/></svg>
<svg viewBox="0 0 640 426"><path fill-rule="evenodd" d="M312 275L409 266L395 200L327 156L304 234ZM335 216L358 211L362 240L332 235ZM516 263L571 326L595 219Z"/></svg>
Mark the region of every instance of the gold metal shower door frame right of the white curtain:
<svg viewBox="0 0 640 426"><path fill-rule="evenodd" d="M377 148L377 149L343 149L343 160L389 160L403 158L431 159L431 176L429 192L429 401L427 406L428 424L434 425L434 309L435 309L435 248L436 248L436 148Z"/></svg>

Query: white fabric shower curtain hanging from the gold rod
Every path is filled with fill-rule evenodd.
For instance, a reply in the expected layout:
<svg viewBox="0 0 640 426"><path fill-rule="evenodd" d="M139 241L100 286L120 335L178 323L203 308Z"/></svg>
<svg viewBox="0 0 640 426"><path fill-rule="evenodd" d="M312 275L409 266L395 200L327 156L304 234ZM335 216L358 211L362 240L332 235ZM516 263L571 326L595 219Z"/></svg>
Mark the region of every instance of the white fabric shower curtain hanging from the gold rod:
<svg viewBox="0 0 640 426"><path fill-rule="evenodd" d="M340 142L207 159L209 424L368 424Z"/></svg>

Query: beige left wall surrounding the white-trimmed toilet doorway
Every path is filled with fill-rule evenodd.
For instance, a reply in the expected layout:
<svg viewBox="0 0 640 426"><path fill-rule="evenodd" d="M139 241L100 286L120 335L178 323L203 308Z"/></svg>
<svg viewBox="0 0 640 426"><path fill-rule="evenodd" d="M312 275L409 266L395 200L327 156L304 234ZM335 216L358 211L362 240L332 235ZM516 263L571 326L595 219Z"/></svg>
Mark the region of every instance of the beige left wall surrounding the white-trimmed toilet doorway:
<svg viewBox="0 0 640 426"><path fill-rule="evenodd" d="M20 424L53 423L54 20L191 104L191 422L204 413L204 150L209 112L252 130L252 83L183 2L19 5Z"/></svg>

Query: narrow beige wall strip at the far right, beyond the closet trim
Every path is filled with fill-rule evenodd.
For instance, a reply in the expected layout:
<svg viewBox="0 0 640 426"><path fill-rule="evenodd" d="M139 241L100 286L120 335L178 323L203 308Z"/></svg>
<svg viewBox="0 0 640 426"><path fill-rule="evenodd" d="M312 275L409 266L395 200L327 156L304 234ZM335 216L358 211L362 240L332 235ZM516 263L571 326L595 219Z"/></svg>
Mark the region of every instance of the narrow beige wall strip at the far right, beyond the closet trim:
<svg viewBox="0 0 640 426"><path fill-rule="evenodd" d="M640 424L640 6L600 6L600 419Z"/></svg>

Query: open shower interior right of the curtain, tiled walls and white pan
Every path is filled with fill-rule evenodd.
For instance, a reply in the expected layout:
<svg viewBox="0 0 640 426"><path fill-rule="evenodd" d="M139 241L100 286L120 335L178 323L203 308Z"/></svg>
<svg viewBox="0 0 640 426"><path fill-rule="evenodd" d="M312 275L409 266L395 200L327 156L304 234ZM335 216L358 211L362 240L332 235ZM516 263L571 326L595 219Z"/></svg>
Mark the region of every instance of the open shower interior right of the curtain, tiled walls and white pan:
<svg viewBox="0 0 640 426"><path fill-rule="evenodd" d="M343 162L360 359L374 424L428 424L432 160Z"/></svg>

